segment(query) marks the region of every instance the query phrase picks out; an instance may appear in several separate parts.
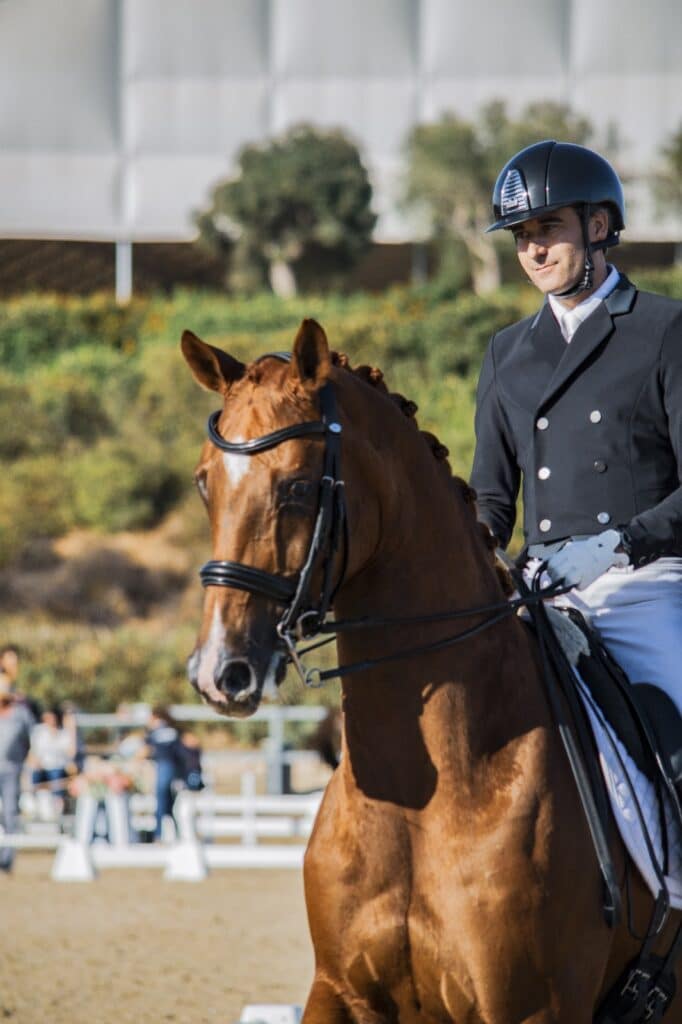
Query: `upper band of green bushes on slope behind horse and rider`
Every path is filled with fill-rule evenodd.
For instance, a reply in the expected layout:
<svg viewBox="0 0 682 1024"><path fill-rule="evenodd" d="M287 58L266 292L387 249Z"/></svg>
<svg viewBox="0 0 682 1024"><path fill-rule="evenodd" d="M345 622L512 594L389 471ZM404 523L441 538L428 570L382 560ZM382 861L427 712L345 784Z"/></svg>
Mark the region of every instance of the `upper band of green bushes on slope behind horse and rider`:
<svg viewBox="0 0 682 1024"><path fill-rule="evenodd" d="M682 270L634 273L682 297ZM26 296L0 305L0 564L36 536L74 526L153 526L191 487L204 425L217 397L197 386L179 352L184 328L242 359L290 349L304 316L331 345L384 371L420 406L455 470L467 475L473 393L489 336L537 308L530 289L486 299L439 284L382 295L248 300L178 291L120 309L110 298Z"/></svg>

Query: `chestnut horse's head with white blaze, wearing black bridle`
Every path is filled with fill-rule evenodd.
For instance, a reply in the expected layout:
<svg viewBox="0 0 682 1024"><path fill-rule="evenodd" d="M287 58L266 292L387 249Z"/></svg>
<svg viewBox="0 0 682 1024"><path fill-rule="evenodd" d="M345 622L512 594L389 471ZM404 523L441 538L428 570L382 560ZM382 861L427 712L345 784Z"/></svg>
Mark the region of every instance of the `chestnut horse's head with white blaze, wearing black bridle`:
<svg viewBox="0 0 682 1024"><path fill-rule="evenodd" d="M265 683L284 677L287 609L297 616L311 598L318 606L343 573L343 487L329 477L340 445L338 378L349 375L332 367L325 332L314 321L303 322L291 357L262 356L245 366L187 331L182 351L199 383L223 398L195 474L211 523L213 559L202 570L206 600L189 679L216 710L247 716ZM337 382L326 387L333 377ZM344 422L343 410L338 420ZM354 470L346 454L344 441L348 478ZM353 544L360 559L379 528L371 499L363 513L361 537ZM305 593L297 594L306 563Z"/></svg>

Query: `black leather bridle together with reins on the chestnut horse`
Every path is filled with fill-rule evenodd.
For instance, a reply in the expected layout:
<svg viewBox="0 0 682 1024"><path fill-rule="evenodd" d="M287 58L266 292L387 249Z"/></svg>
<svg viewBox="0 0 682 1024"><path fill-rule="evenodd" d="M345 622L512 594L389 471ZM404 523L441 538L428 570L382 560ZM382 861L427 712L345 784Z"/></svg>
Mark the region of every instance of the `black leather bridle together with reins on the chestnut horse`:
<svg viewBox="0 0 682 1024"><path fill-rule="evenodd" d="M289 353L268 353L276 358L289 361ZM261 358L267 358L266 355ZM208 436L221 452L246 457L267 452L288 440L303 437L324 437L325 455L323 475L319 480L319 500L317 513L312 530L308 552L297 577L276 575L242 562L212 559L200 569L204 587L231 587L257 594L276 604L286 605L285 611L276 625L276 632L301 681L305 686L323 686L330 679L340 679L355 672L364 672L375 666L385 665L402 657L415 657L428 654L477 636L484 630L496 626L518 608L538 604L565 593L565 589L550 587L541 593L525 593L511 601L497 601L477 608L464 608L451 611L437 611L429 615L401 615L396 617L378 616L373 618L346 618L339 622L327 621L327 615L334 602L334 597L345 578L348 556L348 531L344 481L341 479L341 433L342 427L337 419L336 399L332 384L328 382L319 390L319 407L322 419L308 420L303 423L283 427L261 437L248 441L229 441L218 431L220 411L212 413L208 421ZM339 547L342 545L342 567L336 585L333 584L334 562ZM315 598L311 595L312 573L322 559L323 584ZM404 650L394 651L381 657L354 662L338 666L336 669L323 670L306 668L301 662L301 655L309 650L331 643L334 635L361 629L389 628L392 626L417 626L421 624L449 622L456 618L488 615L482 623L454 636L443 637L432 643L420 644ZM319 634L334 634L327 640L298 649L297 642Z"/></svg>

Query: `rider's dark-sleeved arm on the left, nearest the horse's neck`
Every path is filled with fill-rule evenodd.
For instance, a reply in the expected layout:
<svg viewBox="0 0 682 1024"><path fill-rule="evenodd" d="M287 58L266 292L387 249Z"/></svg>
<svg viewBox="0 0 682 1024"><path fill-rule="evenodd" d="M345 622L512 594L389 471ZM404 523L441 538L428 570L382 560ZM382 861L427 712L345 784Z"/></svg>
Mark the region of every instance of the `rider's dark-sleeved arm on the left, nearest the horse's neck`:
<svg viewBox="0 0 682 1024"><path fill-rule="evenodd" d="M495 337L478 380L476 394L476 451L471 485L478 496L478 518L506 548L516 520L516 498L521 474L515 444L498 395Z"/></svg>

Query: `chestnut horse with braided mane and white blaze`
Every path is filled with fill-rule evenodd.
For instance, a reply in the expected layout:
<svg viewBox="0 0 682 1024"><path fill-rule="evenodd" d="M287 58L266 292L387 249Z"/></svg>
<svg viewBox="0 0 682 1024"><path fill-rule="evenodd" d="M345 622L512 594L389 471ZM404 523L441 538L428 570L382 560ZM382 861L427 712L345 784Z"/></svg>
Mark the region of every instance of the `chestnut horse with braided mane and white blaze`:
<svg viewBox="0 0 682 1024"><path fill-rule="evenodd" d="M332 566L336 617L503 600L471 492L378 371L332 356L313 321L289 362L275 354L244 366L189 332L182 349L199 383L221 395L213 437L232 449L208 440L197 469L219 559L209 566L232 567L227 585L205 579L189 658L191 683L213 708L249 715L266 680L284 675L282 599L239 577L249 566L261 583L296 581L306 561L326 440L287 428L319 423L330 382L348 527L346 564L339 550ZM239 450L282 430L280 443L249 457ZM318 565L314 574L319 588ZM414 622L343 633L339 662L452 632L452 623ZM341 764L305 856L315 953L305 1024L592 1024L640 943L626 924L604 922L597 859L536 644L518 617L367 667L345 679L343 713ZM612 855L623 881L615 840ZM652 901L630 873L641 932ZM668 1020L682 1021L679 996Z"/></svg>

